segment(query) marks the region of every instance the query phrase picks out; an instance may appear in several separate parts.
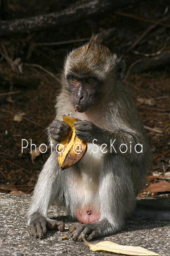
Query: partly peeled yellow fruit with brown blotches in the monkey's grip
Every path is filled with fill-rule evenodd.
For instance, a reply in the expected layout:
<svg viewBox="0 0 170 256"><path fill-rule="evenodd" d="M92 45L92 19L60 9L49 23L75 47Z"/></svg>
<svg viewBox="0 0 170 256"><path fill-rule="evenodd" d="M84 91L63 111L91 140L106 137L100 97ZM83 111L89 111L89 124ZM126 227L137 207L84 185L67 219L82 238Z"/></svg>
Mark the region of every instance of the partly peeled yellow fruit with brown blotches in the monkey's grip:
<svg viewBox="0 0 170 256"><path fill-rule="evenodd" d="M62 118L71 127L71 130L65 139L60 142L61 145L57 149L59 152L58 163L60 168L64 170L82 160L87 151L87 142L80 140L75 133L76 130L73 123L81 121L80 119L72 116L62 116Z"/></svg>

